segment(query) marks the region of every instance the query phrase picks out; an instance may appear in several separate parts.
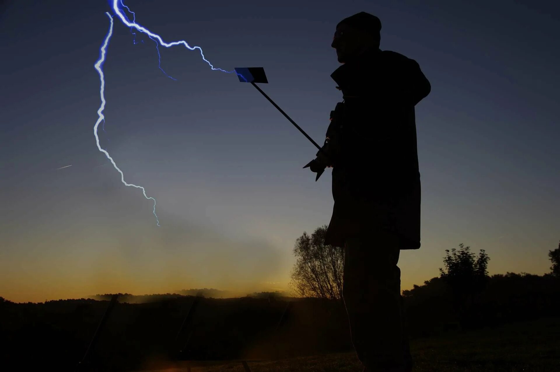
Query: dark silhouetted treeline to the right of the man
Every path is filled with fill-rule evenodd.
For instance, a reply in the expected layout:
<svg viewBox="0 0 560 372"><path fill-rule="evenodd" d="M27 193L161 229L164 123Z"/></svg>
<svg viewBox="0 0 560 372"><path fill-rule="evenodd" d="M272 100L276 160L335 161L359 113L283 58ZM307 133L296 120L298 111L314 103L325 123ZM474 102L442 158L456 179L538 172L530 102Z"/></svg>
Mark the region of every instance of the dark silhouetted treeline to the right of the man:
<svg viewBox="0 0 560 372"><path fill-rule="evenodd" d="M442 277L403 291L410 335L428 337L450 330L558 316L560 278L550 274L496 274L488 278L484 289L457 297Z"/></svg>

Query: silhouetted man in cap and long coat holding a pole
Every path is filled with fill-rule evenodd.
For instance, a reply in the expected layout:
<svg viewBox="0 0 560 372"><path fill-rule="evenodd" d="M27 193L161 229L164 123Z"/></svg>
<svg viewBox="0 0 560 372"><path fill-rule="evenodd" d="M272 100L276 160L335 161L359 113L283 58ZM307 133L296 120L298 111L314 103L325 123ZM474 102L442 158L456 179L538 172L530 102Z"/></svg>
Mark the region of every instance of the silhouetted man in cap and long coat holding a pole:
<svg viewBox="0 0 560 372"><path fill-rule="evenodd" d="M416 61L379 49L379 18L337 25L331 75L344 101L307 166L333 167L334 208L325 244L344 247L343 298L364 371L410 371L400 295L400 249L420 247L420 175L414 106L430 93ZM307 167L306 166L306 167Z"/></svg>

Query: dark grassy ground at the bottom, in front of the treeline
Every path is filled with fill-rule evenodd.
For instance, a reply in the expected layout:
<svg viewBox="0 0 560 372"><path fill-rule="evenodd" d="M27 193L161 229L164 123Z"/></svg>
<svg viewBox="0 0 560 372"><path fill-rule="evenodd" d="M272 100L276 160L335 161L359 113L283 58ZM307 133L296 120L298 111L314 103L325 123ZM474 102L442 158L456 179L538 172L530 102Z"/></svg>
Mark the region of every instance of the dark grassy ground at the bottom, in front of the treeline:
<svg viewBox="0 0 560 372"><path fill-rule="evenodd" d="M507 324L496 328L413 340L414 371L560 371L560 318ZM353 352L276 361L249 362L253 372L358 372ZM186 368L166 372L186 372ZM192 372L244 372L240 362L206 365Z"/></svg>

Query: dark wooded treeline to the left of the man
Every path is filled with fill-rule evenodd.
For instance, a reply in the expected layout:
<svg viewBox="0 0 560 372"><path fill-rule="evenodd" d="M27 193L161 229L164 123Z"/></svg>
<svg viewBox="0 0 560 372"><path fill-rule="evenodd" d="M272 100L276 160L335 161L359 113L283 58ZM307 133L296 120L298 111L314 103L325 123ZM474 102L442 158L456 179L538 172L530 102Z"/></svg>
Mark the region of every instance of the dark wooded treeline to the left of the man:
<svg viewBox="0 0 560 372"><path fill-rule="evenodd" d="M85 368L157 369L174 360L274 359L351 350L346 314L338 304L261 295L199 299L184 328L193 296L118 302ZM2 365L74 370L108 305L92 299L18 304L0 298Z"/></svg>

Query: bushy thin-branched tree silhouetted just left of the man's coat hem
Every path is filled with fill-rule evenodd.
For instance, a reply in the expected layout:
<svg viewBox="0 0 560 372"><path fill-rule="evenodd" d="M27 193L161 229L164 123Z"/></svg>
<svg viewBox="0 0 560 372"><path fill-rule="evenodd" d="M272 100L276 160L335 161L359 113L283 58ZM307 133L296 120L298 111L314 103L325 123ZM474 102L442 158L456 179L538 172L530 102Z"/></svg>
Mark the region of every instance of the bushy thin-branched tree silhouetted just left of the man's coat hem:
<svg viewBox="0 0 560 372"><path fill-rule="evenodd" d="M323 244L326 225L309 236L306 232L296 239L293 254L297 260L292 269L291 287L302 297L342 300L344 251Z"/></svg>

